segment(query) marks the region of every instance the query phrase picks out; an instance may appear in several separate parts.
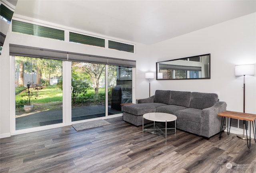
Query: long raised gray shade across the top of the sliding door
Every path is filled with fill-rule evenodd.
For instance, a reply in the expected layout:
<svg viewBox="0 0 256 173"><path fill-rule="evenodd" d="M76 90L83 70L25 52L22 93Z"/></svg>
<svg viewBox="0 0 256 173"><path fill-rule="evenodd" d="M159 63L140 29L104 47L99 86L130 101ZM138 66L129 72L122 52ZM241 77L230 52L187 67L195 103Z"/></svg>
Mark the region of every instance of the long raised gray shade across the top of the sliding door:
<svg viewBox="0 0 256 173"><path fill-rule="evenodd" d="M136 61L10 44L10 55L136 67Z"/></svg>

